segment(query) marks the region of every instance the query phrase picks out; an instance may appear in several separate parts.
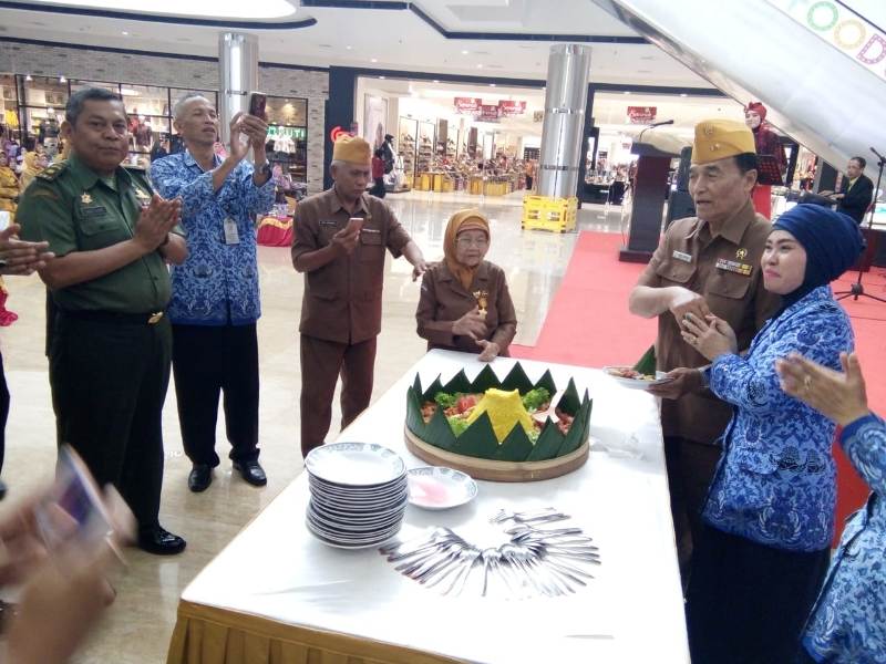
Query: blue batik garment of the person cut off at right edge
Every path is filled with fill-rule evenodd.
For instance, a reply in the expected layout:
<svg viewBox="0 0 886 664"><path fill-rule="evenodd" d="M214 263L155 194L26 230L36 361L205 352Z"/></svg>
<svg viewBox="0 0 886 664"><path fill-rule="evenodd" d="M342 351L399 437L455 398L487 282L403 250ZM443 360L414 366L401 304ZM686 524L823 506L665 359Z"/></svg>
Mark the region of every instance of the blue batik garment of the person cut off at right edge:
<svg viewBox="0 0 886 664"><path fill-rule="evenodd" d="M803 644L816 662L886 662L886 424L869 415L843 432L843 449L873 489L852 516L810 614Z"/></svg>

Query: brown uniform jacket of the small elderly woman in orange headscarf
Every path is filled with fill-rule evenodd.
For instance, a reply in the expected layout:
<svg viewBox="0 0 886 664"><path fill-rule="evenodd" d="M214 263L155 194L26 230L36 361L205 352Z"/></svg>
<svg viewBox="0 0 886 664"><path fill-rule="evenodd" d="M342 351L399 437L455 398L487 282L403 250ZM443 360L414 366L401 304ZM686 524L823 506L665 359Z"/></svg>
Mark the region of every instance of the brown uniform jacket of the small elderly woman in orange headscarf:
<svg viewBox="0 0 886 664"><path fill-rule="evenodd" d="M474 274L470 292L450 272L445 262L431 266L422 279L422 293L415 321L419 336L427 340L427 349L446 349L480 353L482 349L471 336L452 333L453 321L481 307L486 310L486 334L483 339L498 344L498 354L507 356L507 346L517 331L517 314L507 290L502 268L483 261Z"/></svg>

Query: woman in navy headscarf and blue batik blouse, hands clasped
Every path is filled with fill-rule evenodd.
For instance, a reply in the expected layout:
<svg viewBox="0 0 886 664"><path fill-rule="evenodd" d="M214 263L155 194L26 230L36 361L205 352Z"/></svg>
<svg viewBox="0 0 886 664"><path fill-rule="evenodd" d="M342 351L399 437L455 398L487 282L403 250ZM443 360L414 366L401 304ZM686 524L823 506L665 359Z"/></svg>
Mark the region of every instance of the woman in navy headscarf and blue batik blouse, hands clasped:
<svg viewBox="0 0 886 664"><path fill-rule="evenodd" d="M799 205L773 225L761 260L764 287L782 295L782 309L745 356L724 321L681 321L687 343L712 361L711 391L735 406L687 591L693 664L785 664L796 656L834 532L835 425L782 391L775 360L796 352L839 367L853 335L828 283L862 246L846 215Z"/></svg>

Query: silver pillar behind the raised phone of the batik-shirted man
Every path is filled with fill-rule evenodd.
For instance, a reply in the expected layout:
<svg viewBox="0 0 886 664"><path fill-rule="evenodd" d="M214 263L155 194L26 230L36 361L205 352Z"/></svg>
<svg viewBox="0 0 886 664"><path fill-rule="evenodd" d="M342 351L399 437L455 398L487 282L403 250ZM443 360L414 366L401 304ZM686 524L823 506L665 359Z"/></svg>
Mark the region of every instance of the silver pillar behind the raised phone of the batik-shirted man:
<svg viewBox="0 0 886 664"><path fill-rule="evenodd" d="M218 35L218 132L222 143L230 141L230 120L249 110L249 93L258 90L258 38L223 32Z"/></svg>

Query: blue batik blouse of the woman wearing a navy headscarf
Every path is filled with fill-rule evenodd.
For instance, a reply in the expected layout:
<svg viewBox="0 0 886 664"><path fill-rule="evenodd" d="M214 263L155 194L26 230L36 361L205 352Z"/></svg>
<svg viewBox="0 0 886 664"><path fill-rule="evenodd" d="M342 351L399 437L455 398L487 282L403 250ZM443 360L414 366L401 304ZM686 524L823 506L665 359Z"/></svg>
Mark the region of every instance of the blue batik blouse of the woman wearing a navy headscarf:
<svg viewBox="0 0 886 664"><path fill-rule="evenodd" d="M839 369L849 319L817 288L770 320L746 356L710 367L711 390L735 406L703 517L714 528L790 551L820 551L834 532L835 425L782 391L775 361L796 352Z"/></svg>

